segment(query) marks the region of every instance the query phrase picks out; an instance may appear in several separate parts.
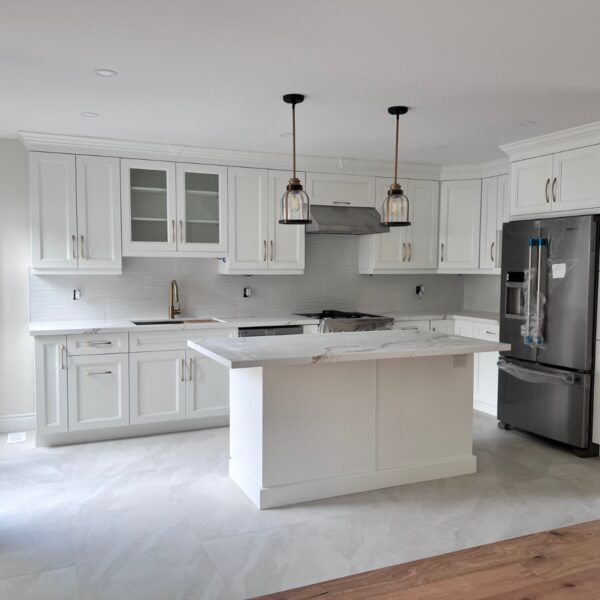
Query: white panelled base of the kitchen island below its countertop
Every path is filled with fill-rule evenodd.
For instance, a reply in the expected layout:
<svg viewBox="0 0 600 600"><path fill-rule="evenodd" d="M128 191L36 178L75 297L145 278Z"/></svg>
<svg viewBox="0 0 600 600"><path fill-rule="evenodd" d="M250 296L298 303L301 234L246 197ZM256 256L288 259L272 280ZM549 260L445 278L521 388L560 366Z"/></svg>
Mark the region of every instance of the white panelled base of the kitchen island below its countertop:
<svg viewBox="0 0 600 600"><path fill-rule="evenodd" d="M229 474L259 508L474 473L473 356L230 371Z"/></svg>

